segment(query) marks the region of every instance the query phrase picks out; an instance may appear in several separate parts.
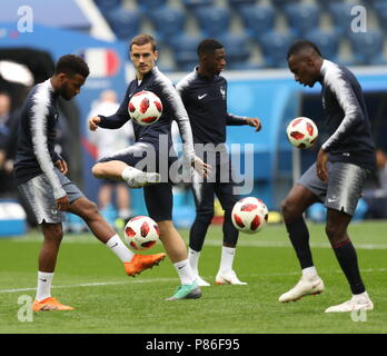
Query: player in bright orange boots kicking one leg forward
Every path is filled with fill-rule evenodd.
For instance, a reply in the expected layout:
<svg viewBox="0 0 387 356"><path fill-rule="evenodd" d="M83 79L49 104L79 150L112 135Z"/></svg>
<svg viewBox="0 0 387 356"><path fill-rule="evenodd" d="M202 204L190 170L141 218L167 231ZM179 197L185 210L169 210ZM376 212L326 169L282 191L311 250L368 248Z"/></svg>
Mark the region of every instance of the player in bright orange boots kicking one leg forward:
<svg viewBox="0 0 387 356"><path fill-rule="evenodd" d="M131 253L98 212L96 205L64 176L67 162L53 149L58 121L56 103L59 96L66 100L76 97L88 76L89 68L81 58L72 55L61 57L53 76L31 90L21 112L14 178L44 237L39 255L34 312L73 309L51 296L53 271L63 237L62 211L80 216L95 236L120 258L129 276L157 265L166 256Z"/></svg>

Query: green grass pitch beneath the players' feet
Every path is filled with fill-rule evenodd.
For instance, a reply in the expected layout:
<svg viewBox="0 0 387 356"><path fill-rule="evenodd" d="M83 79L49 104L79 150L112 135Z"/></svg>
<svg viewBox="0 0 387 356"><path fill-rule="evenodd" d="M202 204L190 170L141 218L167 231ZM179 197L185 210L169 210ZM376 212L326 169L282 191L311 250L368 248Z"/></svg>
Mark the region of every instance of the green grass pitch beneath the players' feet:
<svg viewBox="0 0 387 356"><path fill-rule="evenodd" d="M169 259L129 278L116 256L90 234L67 235L61 246L52 295L73 312L34 313L20 320L20 296L34 297L38 231L0 238L0 333L128 333L128 334L336 334L387 332L387 222L353 224L349 229L364 281L375 309L361 320L324 310L350 298L324 233L308 224L314 259L326 290L297 303L278 297L299 279L295 253L282 225L267 226L255 236L241 234L235 269L247 286L217 286L221 228L209 229L201 254L201 276L211 283L196 300L165 301L178 286ZM187 240L187 231L181 231ZM149 253L162 251L158 244ZM19 315L19 317L18 317Z"/></svg>

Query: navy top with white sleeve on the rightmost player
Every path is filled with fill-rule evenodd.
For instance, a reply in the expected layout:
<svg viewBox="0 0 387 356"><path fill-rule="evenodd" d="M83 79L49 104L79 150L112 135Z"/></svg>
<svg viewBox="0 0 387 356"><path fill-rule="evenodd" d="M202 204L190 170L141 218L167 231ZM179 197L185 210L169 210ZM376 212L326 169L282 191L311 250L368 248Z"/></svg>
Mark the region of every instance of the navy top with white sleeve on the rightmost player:
<svg viewBox="0 0 387 356"><path fill-rule="evenodd" d="M370 170L376 168L371 136L363 90L346 67L324 60L322 107L329 138L322 145L330 161L354 164Z"/></svg>

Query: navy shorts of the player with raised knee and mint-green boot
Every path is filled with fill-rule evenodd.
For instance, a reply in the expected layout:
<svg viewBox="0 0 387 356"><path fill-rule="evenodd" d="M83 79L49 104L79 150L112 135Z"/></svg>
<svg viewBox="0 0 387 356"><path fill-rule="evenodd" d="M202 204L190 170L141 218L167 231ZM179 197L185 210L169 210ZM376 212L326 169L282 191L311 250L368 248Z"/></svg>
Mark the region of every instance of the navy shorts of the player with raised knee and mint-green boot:
<svg viewBox="0 0 387 356"><path fill-rule="evenodd" d="M167 162L166 165L168 168L176 160L173 157L162 158L165 159L163 161ZM155 148L155 146L145 142L136 142L126 149L103 157L99 160L99 162L107 162L111 160L120 160L142 171L157 171L161 174L161 179L165 182L143 187L143 198L148 215L156 222L172 219L172 184L169 180L169 177L162 177L163 170L160 169L159 151Z"/></svg>

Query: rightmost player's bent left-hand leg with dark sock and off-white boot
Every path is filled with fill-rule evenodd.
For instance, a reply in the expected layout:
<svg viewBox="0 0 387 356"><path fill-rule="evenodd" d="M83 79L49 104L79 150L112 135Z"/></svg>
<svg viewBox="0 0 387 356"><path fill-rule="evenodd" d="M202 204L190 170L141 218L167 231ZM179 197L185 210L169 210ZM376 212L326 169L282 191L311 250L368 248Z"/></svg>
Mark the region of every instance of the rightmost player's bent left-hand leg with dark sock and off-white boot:
<svg viewBox="0 0 387 356"><path fill-rule="evenodd" d="M317 275L312 261L308 227L302 217L307 207L316 201L317 197L309 189L297 184L281 204L286 229L302 269L302 276L294 288L279 297L278 301L295 301L304 296L324 291L322 279Z"/></svg>

